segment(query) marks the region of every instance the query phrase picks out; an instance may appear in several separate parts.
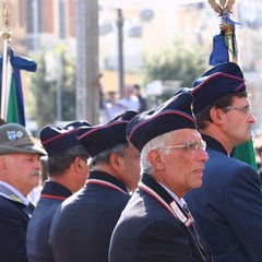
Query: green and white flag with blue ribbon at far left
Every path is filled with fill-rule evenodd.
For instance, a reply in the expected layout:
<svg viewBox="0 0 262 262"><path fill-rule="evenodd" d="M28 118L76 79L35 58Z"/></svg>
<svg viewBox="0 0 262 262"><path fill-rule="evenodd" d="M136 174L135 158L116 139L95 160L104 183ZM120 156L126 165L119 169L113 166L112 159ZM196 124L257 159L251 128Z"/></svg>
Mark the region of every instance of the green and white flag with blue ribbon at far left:
<svg viewBox="0 0 262 262"><path fill-rule="evenodd" d="M0 57L1 80L1 118L5 122L17 122L25 126L24 97L21 82L21 70L35 72L37 64L25 57L15 57L8 47L7 58ZM3 69L5 69L3 71Z"/></svg>

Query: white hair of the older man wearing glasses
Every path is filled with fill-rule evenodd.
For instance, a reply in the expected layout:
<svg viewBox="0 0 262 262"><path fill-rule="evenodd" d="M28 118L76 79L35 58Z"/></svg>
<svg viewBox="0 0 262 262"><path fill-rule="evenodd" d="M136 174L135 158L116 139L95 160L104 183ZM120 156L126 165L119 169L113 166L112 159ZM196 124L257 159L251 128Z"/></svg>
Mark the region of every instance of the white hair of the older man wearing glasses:
<svg viewBox="0 0 262 262"><path fill-rule="evenodd" d="M154 138L153 140L151 140L150 142L147 142L144 147L141 151L141 170L142 172L146 172L148 175L152 175L154 172L154 167L151 165L150 160L148 160L148 153L153 150L158 150L160 147L165 147L168 145L168 142L171 139L171 134L175 131L168 132L168 133L164 133L160 134L156 138ZM168 151L165 152L166 154L168 154Z"/></svg>

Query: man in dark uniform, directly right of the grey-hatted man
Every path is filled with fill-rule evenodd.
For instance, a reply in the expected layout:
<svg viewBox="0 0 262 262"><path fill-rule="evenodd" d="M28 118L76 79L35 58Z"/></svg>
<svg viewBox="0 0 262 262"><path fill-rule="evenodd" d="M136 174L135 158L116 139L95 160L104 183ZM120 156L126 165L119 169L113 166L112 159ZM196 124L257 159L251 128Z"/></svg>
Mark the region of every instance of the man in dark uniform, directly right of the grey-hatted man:
<svg viewBox="0 0 262 262"><path fill-rule="evenodd" d="M31 262L55 261L49 245L49 230L57 207L80 190L88 174L88 154L76 139L86 121L64 128L47 126L40 131L41 144L48 153L48 175L40 200L27 227L26 246Z"/></svg>

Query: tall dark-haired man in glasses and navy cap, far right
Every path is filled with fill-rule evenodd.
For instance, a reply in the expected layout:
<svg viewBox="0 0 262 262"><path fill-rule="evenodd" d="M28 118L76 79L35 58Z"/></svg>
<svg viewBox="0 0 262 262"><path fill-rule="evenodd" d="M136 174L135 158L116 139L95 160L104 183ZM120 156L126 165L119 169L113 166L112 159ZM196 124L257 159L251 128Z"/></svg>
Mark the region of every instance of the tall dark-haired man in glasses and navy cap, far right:
<svg viewBox="0 0 262 262"><path fill-rule="evenodd" d="M222 63L191 90L196 124L210 159L203 184L186 196L195 221L221 262L262 261L262 192L253 168L230 155L252 139L251 111L240 68Z"/></svg>

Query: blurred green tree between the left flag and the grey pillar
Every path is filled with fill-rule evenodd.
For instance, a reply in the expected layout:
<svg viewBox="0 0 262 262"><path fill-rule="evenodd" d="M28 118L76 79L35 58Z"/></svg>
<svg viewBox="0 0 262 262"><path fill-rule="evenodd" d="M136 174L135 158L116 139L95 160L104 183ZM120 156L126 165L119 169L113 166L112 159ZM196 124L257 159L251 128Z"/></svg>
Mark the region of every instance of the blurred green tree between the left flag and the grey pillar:
<svg viewBox="0 0 262 262"><path fill-rule="evenodd" d="M61 112L62 121L75 119L75 59L67 57L64 48L56 48L51 55L61 59ZM47 79L48 57L41 50L34 58L37 71L31 79L31 116L38 127L55 123L57 120L57 79ZM55 60L56 61L56 60ZM53 62L49 61L50 63ZM55 76L58 74L55 67Z"/></svg>

